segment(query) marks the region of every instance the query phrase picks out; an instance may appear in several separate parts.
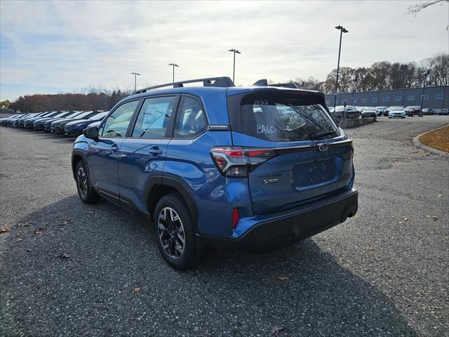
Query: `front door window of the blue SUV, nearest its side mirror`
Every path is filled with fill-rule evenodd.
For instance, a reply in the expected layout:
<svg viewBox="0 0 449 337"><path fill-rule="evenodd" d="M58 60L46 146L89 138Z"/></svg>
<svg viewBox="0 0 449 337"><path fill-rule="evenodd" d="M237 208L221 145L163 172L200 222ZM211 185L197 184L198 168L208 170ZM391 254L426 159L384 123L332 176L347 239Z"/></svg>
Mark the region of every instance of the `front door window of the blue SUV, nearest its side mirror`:
<svg viewBox="0 0 449 337"><path fill-rule="evenodd" d="M125 137L126 130L128 129L129 122L133 117L135 107L138 106L139 101L133 100L120 105L107 117L105 124L98 132L102 137Z"/></svg>

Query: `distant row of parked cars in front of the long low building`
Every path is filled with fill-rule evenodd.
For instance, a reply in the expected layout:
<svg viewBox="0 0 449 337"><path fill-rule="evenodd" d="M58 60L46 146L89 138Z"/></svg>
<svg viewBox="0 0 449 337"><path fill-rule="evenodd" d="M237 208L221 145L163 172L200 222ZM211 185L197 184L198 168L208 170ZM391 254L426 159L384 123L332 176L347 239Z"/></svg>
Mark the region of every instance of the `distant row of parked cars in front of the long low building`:
<svg viewBox="0 0 449 337"><path fill-rule="evenodd" d="M366 118L366 117L380 117L385 116L389 118L401 117L406 118L406 116L413 117L415 114L420 114L421 107L419 105L413 105L409 107L403 107L402 105L396 105L391 107L356 107L354 105L339 105L330 108L330 113L334 117L341 118L343 114L347 118ZM423 114L429 115L448 115L449 109L422 109Z"/></svg>

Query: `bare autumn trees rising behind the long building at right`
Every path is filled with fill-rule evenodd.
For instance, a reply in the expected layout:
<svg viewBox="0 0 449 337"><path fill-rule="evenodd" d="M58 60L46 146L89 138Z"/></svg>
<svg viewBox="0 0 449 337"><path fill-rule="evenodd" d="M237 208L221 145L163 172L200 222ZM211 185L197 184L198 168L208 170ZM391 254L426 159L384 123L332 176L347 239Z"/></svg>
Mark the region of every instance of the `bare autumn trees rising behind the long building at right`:
<svg viewBox="0 0 449 337"><path fill-rule="evenodd" d="M425 74L430 70L429 77ZM337 69L332 70L326 81L314 77L290 80L304 89L334 93ZM375 62L370 67L340 67L338 74L338 92L375 91L403 88L415 88L426 84L435 86L449 85L449 54L441 53L416 62ZM303 85L304 84L304 85Z"/></svg>

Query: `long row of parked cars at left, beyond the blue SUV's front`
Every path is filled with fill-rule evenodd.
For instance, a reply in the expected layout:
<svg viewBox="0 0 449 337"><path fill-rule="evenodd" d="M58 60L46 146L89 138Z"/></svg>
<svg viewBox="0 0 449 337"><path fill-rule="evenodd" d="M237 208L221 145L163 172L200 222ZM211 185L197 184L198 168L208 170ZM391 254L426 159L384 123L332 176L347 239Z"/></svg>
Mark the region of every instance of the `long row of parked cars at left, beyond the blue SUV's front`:
<svg viewBox="0 0 449 337"><path fill-rule="evenodd" d="M46 111L14 114L0 119L0 124L77 137L88 126L98 126L109 111Z"/></svg>

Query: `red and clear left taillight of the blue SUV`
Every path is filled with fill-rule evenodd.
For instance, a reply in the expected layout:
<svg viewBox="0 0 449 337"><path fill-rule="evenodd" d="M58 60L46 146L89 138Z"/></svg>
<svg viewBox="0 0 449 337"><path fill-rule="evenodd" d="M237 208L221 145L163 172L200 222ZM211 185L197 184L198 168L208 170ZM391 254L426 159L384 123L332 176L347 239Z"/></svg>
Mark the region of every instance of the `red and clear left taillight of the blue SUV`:
<svg viewBox="0 0 449 337"><path fill-rule="evenodd" d="M248 172L276 156L274 150L243 147L213 147L210 154L220 172L234 178L248 177Z"/></svg>

